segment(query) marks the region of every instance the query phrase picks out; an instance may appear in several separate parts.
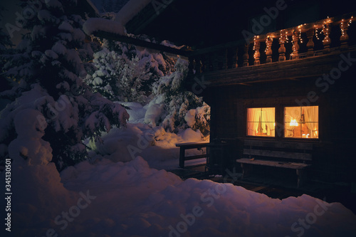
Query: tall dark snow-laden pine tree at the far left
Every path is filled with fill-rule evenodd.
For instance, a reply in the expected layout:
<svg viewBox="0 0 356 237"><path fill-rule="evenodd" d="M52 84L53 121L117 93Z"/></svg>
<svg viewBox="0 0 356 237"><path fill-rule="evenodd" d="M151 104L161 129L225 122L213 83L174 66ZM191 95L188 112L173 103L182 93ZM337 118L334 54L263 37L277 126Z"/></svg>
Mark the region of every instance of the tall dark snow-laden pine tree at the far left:
<svg viewBox="0 0 356 237"><path fill-rule="evenodd" d="M75 0L48 0L36 17L23 19L31 33L4 65L6 77L18 82L13 90L21 93L0 113L1 147L16 139L16 115L28 108L38 110L38 122L46 127L42 138L50 142L59 170L85 159L85 138L125 125L129 116L121 105L92 93L83 82L93 49L82 31L83 19L73 14L75 5ZM19 152L26 159L24 151L26 147Z"/></svg>

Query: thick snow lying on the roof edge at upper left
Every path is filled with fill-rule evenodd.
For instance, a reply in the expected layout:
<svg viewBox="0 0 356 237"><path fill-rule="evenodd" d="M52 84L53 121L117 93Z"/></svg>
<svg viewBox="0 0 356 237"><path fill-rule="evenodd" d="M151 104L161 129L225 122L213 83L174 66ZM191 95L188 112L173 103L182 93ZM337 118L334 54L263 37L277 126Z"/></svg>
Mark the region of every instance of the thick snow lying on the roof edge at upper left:
<svg viewBox="0 0 356 237"><path fill-rule="evenodd" d="M150 2L151 0L130 0L119 12L117 12L114 21L91 18L88 19L88 21L85 21L83 30L88 35L91 35L94 31L106 31L125 35L126 23L136 16L142 9L144 9L145 6L150 4Z"/></svg>

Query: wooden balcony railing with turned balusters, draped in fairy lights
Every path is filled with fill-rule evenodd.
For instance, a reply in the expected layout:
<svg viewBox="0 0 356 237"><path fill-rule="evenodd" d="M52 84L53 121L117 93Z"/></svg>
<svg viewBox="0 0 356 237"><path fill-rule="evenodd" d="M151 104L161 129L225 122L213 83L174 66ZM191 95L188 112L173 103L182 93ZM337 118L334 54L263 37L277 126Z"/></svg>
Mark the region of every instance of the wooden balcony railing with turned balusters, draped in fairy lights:
<svg viewBox="0 0 356 237"><path fill-rule="evenodd" d="M347 51L350 47L348 31L353 21L352 15L254 36L248 43L236 41L194 51L189 56L189 74ZM351 45L355 42L353 40Z"/></svg>

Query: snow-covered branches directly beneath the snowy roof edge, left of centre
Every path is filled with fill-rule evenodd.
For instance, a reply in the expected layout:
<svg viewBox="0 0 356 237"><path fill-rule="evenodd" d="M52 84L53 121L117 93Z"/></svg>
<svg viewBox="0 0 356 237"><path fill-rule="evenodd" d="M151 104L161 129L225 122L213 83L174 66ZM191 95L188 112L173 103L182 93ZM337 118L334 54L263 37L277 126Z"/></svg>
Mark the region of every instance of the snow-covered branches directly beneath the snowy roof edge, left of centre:
<svg viewBox="0 0 356 237"><path fill-rule="evenodd" d="M103 40L103 50L94 54L95 69L85 81L110 100L146 102L152 84L174 70L175 58L149 53L126 43Z"/></svg>

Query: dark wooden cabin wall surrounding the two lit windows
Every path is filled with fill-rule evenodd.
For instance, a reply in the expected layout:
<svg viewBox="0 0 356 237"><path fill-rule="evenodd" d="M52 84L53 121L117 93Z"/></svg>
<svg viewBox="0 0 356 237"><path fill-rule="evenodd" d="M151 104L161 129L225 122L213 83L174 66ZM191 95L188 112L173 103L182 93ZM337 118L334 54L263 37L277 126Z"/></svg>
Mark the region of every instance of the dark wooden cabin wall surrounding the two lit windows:
<svg viewBox="0 0 356 237"><path fill-rule="evenodd" d="M352 53L351 58L356 58L356 53ZM228 159L226 164L234 165L234 160L242 157L243 141L248 137L246 136L247 108L276 107L276 122L282 123L282 130L276 132L276 137L249 138L313 143L313 167L310 169L312 179L355 180L353 175L353 165L356 164L353 148L356 144L353 136L356 132L356 117L353 115L356 102L355 69L356 65L342 73L342 76L325 92L315 85L317 77L208 88L204 93L204 100L211 106L211 140L234 139L234 152L231 152L229 157L225 157ZM307 104L305 99L310 91L315 92L318 100L309 101ZM296 100L303 103L298 104ZM318 139L284 137L284 107L300 105L319 106Z"/></svg>

